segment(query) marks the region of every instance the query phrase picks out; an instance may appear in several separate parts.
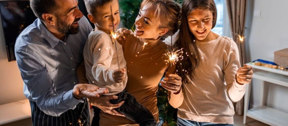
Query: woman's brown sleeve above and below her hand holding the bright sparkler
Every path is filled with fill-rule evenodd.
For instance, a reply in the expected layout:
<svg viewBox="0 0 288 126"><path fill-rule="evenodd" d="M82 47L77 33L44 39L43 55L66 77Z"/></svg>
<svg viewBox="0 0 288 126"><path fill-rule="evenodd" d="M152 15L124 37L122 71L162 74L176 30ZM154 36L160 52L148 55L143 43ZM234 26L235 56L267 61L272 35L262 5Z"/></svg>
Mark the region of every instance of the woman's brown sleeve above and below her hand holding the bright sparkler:
<svg viewBox="0 0 288 126"><path fill-rule="evenodd" d="M176 74L176 65L172 65L171 67L171 65L169 64L169 67L166 70L165 77L169 78L168 77L169 74ZM168 91L168 102L173 108L178 108L183 103L184 96L183 96L183 92L181 88L180 88L180 92L177 94Z"/></svg>

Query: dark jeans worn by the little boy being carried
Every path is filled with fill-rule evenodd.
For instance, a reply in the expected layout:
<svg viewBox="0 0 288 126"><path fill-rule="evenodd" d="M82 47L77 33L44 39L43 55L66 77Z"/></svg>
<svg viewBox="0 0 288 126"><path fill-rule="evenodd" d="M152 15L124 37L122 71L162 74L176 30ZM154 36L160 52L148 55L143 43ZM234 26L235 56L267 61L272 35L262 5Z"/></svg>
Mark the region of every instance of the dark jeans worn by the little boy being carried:
<svg viewBox="0 0 288 126"><path fill-rule="evenodd" d="M118 99L111 99L110 103L118 104L124 101L124 104L119 108L115 108L116 111L125 115L127 119L136 122L140 126L156 126L157 123L154 116L145 106L137 102L134 96L126 90L123 90L116 95L118 96ZM91 126L98 126L100 119L99 113L101 110L95 106L92 106L92 108L94 109L94 117Z"/></svg>

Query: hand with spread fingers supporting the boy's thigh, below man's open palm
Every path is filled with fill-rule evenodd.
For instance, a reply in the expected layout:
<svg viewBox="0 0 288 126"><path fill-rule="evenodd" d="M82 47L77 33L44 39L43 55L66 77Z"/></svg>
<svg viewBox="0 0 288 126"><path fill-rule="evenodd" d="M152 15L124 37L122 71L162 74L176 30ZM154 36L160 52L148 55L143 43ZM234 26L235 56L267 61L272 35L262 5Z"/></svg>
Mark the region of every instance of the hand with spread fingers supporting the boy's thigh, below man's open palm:
<svg viewBox="0 0 288 126"><path fill-rule="evenodd" d="M117 98L118 96L116 95L100 96L99 98L88 98L88 101L91 105L100 108L104 113L125 117L123 114L119 113L118 111L114 109L114 108L119 108L122 104L124 104L124 101L118 104L112 104L109 102L109 100L117 99Z"/></svg>

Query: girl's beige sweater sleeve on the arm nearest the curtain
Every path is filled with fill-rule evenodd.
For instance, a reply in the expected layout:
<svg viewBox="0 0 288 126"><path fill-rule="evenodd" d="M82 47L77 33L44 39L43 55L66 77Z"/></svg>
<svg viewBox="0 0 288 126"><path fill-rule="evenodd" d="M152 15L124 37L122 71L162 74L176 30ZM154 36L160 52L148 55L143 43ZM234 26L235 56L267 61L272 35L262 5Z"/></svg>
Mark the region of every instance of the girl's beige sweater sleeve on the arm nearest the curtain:
<svg viewBox="0 0 288 126"><path fill-rule="evenodd" d="M244 96L246 87L245 84L240 85L236 82L235 75L238 68L240 67L240 62L238 47L233 40L231 40L230 50L227 53L228 57L225 60L226 65L223 70L226 81L227 94L233 102L237 102Z"/></svg>

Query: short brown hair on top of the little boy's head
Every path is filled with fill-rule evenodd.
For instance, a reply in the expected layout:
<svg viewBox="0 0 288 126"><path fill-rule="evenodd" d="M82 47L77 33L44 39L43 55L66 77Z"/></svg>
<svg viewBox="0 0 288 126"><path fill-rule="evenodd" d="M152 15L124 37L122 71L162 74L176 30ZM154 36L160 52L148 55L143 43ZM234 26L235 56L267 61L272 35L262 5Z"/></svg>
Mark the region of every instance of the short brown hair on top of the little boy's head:
<svg viewBox="0 0 288 126"><path fill-rule="evenodd" d="M102 7L112 1L113 0L84 0L88 14L91 14L93 16L97 12L98 7Z"/></svg>

